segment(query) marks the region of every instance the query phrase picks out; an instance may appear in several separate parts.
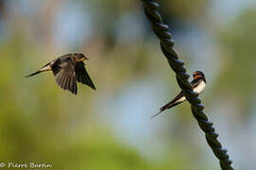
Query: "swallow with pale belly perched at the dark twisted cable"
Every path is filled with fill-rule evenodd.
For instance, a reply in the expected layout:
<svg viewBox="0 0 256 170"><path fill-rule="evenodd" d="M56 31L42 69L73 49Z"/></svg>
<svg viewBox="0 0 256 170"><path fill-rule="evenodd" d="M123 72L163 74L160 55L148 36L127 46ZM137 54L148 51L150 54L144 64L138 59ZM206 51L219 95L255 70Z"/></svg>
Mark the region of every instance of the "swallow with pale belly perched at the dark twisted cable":
<svg viewBox="0 0 256 170"><path fill-rule="evenodd" d="M206 83L207 83L205 75L200 71L195 71L195 72L193 72L192 76L193 76L193 79L192 79L191 84L192 84L193 92L202 93L203 90L205 89ZM167 103L165 106L160 108L159 112L156 113L155 115L153 115L151 118L160 114L164 110L171 109L174 106L177 106L177 105L183 103L186 100L187 99L182 92L178 93L171 102Z"/></svg>

